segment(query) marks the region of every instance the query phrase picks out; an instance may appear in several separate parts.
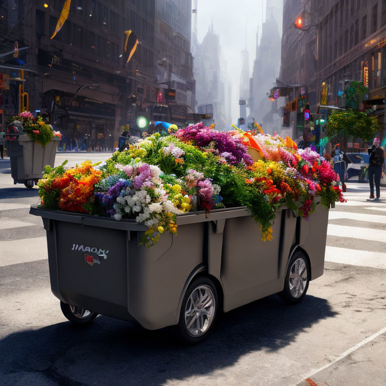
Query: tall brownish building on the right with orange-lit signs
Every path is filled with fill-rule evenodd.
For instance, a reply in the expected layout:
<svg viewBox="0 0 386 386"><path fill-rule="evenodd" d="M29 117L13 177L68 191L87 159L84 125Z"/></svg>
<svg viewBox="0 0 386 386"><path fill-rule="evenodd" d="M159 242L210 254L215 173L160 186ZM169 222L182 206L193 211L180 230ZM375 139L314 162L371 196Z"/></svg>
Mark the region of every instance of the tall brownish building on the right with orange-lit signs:
<svg viewBox="0 0 386 386"><path fill-rule="evenodd" d="M307 27L304 30L292 27L300 15ZM343 88L350 80L368 86L367 106L382 107L374 115L384 127L386 1L333 0L302 5L298 0L284 0L283 31L278 85L287 86L287 114L291 116L289 124L294 122L295 137L314 134L297 120L299 108L292 103L307 94L312 113L317 113L320 105L343 107ZM381 135L386 138L384 130Z"/></svg>

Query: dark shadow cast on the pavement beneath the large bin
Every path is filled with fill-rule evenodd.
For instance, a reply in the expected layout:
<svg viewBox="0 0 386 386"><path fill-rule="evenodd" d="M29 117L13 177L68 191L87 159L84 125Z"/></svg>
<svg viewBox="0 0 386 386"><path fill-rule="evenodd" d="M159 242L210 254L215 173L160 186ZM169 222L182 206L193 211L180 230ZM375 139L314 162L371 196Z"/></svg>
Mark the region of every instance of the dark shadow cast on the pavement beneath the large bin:
<svg viewBox="0 0 386 386"><path fill-rule="evenodd" d="M162 385L225 370L250 352L279 350L335 315L325 299L306 296L286 306L271 296L225 314L205 342L189 347L166 329L146 331L103 316L87 327L59 323L0 341L2 385Z"/></svg>

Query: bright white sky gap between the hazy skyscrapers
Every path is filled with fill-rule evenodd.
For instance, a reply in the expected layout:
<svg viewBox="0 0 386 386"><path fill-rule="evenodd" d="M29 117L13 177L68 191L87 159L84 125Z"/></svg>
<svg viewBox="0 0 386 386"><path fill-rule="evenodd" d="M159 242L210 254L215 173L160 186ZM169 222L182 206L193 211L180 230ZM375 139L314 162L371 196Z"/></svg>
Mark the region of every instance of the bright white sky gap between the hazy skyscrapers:
<svg viewBox="0 0 386 386"><path fill-rule="evenodd" d="M265 0L198 0L198 40L200 43L203 41L213 22L214 32L220 35L222 57L228 63L227 72L232 82L232 122L228 124L237 123L239 117L241 51L246 44L251 72L256 53L257 28L261 36L262 7L265 18Z"/></svg>

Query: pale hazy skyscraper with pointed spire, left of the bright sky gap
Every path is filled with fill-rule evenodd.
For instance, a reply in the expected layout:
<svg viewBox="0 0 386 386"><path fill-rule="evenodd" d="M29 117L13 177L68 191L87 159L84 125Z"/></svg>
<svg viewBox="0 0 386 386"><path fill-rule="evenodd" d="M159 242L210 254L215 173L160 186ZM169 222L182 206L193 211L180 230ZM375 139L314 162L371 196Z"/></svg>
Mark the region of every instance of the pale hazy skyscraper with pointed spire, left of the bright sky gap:
<svg viewBox="0 0 386 386"><path fill-rule="evenodd" d="M227 125L225 112L225 88L221 79L221 46L220 37L214 31L213 24L200 44L199 62L196 68L196 98L199 113L212 114L212 110L204 111L204 107L213 107L213 121L216 129L224 130Z"/></svg>

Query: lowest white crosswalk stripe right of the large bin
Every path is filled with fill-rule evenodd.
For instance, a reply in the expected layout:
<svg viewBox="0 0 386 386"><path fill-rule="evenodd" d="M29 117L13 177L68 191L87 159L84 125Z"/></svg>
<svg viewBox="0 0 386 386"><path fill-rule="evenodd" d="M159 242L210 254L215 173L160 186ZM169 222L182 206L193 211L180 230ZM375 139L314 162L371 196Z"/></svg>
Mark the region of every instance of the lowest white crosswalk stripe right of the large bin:
<svg viewBox="0 0 386 386"><path fill-rule="evenodd" d="M384 250L386 250L386 243L384 244ZM325 260L332 263L386 269L386 253L382 252L326 246Z"/></svg>

